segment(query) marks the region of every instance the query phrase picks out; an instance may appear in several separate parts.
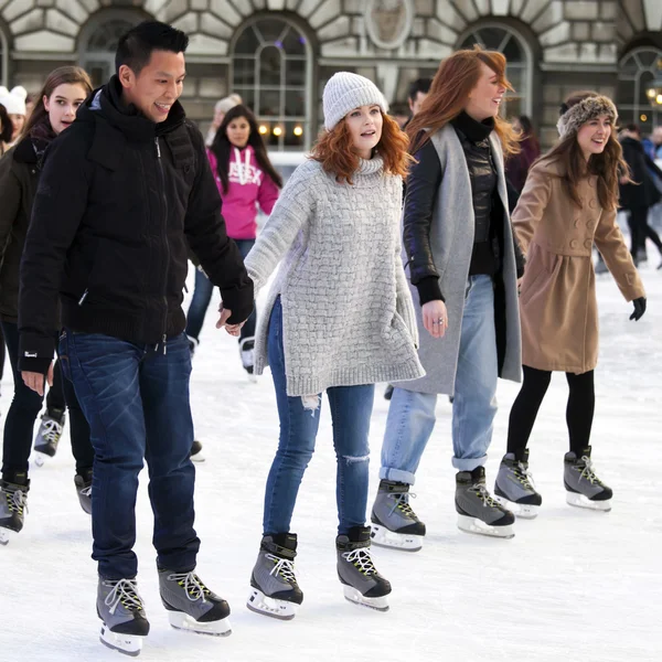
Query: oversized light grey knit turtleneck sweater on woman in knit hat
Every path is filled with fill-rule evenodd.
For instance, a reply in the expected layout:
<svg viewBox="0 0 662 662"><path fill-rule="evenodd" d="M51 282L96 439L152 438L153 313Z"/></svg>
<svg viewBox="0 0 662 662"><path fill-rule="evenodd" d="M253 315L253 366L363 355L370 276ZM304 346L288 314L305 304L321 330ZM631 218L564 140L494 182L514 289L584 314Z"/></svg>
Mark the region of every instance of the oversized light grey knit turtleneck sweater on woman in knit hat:
<svg viewBox="0 0 662 662"><path fill-rule="evenodd" d="M258 325L255 371L268 363L280 295L289 396L425 374L401 258L402 179L374 157L352 181L339 184L313 160L299 166L246 258L256 292L282 260Z"/></svg>

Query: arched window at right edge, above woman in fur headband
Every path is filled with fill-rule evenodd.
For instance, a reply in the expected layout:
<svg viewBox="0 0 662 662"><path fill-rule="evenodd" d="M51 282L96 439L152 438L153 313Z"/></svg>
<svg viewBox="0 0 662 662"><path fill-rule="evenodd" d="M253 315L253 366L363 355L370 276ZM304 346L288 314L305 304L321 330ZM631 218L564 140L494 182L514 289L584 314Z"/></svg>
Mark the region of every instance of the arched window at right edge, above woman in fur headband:
<svg viewBox="0 0 662 662"><path fill-rule="evenodd" d="M653 108L647 96L647 87L655 77L655 63L662 51L643 46L630 51L618 70L616 103L620 124L638 124L643 134L662 125L662 109Z"/></svg>

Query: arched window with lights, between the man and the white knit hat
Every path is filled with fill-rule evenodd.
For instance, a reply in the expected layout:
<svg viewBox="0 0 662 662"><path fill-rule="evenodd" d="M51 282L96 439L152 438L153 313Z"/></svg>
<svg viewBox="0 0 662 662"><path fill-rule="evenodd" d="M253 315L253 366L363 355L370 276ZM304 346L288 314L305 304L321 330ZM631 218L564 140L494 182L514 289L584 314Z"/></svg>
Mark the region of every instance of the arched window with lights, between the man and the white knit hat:
<svg viewBox="0 0 662 662"><path fill-rule="evenodd" d="M311 142L311 47L282 17L258 17L232 49L232 89L257 116L267 147L307 150Z"/></svg>

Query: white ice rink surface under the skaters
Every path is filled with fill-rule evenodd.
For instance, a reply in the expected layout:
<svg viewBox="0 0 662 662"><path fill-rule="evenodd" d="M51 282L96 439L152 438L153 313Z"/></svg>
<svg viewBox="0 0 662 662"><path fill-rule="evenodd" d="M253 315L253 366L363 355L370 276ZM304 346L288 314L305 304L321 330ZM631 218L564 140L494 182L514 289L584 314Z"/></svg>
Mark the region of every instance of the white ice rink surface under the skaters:
<svg viewBox="0 0 662 662"><path fill-rule="evenodd" d="M652 248L649 253L655 253ZM655 255L656 257L656 255ZM438 424L415 491L426 522L421 552L376 549L392 581L391 610L345 601L335 576L334 456L324 406L318 450L305 477L292 531L305 602L291 622L248 611L250 569L260 537L265 479L278 437L268 374L247 382L236 341L213 328L210 313L194 360L192 406L206 461L197 465L199 572L229 600L233 634L215 639L172 630L158 596L147 479L138 503L139 586L151 633L143 662L267 662L397 659L491 662L652 662L662 659L662 271L642 275L649 311L628 321L631 306L610 277L598 282L601 359L598 366L594 459L613 488L611 513L565 503L567 450L563 375L555 375L531 442L531 465L544 506L519 521L511 541L456 527L450 466L450 406ZM190 278L192 285L192 278ZM215 303L212 305L213 310ZM2 413L11 397L2 383ZM371 496L377 487L387 403L377 387L372 425ZM490 484L504 452L508 415L517 393L501 383ZM89 519L74 492L67 438L56 458L32 472L25 528L0 548L0 660L110 661L98 643L96 568L89 558Z"/></svg>

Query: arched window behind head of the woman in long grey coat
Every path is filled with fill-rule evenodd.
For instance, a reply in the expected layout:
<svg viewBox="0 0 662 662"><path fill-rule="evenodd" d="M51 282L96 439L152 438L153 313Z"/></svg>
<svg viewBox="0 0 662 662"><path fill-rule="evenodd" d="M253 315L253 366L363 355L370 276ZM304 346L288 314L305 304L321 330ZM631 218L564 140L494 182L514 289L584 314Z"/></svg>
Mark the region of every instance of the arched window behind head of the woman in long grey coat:
<svg viewBox="0 0 662 662"><path fill-rule="evenodd" d="M532 114L533 54L517 32L503 23L482 23L472 28L460 40L460 49L480 44L503 53L508 60L506 76L515 92L509 92L501 108L503 117Z"/></svg>

